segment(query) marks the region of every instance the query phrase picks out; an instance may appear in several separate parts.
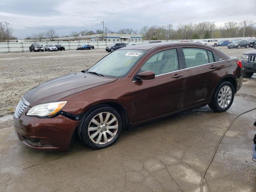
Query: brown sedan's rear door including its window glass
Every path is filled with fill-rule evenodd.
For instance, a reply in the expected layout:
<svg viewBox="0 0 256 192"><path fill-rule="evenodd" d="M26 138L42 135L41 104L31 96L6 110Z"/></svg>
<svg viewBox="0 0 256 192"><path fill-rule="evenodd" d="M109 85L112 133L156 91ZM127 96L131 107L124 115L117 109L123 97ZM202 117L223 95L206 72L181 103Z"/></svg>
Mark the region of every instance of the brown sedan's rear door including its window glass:
<svg viewBox="0 0 256 192"><path fill-rule="evenodd" d="M212 92L222 77L222 61L215 60L214 51L200 46L182 46L186 73L184 107L211 100Z"/></svg>

